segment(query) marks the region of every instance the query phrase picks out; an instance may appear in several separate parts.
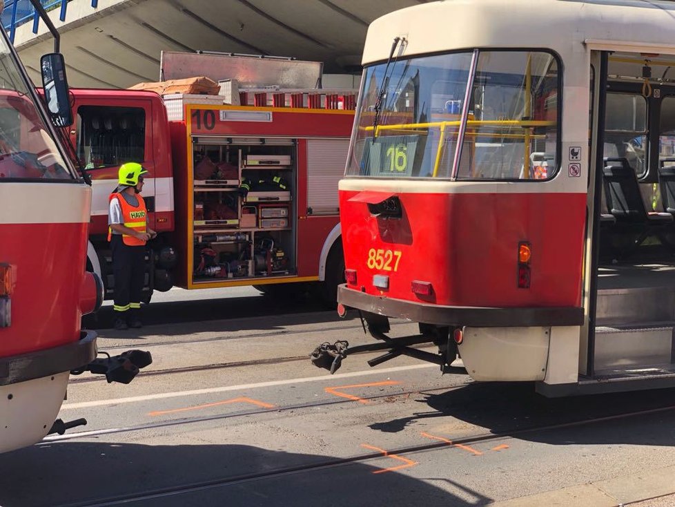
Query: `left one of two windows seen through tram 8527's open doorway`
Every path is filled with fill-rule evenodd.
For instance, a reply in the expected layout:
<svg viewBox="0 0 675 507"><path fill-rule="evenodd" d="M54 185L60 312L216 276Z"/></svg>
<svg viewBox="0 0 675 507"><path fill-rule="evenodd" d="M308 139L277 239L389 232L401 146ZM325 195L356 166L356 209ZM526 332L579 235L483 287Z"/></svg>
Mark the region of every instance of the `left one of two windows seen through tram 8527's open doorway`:
<svg viewBox="0 0 675 507"><path fill-rule="evenodd" d="M606 111L605 157L625 158L640 178L647 172L647 99L634 93L607 93Z"/></svg>

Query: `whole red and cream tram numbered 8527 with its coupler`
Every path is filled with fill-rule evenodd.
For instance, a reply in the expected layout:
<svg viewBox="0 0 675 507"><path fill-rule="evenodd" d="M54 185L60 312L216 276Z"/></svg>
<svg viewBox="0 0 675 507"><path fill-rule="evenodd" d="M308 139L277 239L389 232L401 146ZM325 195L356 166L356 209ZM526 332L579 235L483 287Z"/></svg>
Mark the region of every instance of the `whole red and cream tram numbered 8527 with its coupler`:
<svg viewBox="0 0 675 507"><path fill-rule="evenodd" d="M317 347L315 364L383 350L371 365L459 356L473 379L549 396L674 386L674 15L456 0L375 20L338 301L380 342ZM390 336L389 318L420 333Z"/></svg>

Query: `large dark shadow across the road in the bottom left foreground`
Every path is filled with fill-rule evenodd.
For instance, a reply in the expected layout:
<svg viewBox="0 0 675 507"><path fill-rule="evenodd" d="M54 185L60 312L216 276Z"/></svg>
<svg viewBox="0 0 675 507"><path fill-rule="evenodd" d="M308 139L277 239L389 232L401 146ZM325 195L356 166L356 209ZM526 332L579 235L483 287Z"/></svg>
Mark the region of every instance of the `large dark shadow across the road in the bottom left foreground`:
<svg viewBox="0 0 675 507"><path fill-rule="evenodd" d="M329 461L241 445L157 445L133 443L53 443L0 456L0 504L3 507L117 505L148 490L170 490L201 482L204 488L182 495L122 502L126 506L482 506L490 499L442 479L443 490L406 472L374 473L390 459L304 472L271 479L236 481L208 487L223 477L260 474L280 468ZM394 461L394 464L400 464ZM381 467L381 468L380 468Z"/></svg>

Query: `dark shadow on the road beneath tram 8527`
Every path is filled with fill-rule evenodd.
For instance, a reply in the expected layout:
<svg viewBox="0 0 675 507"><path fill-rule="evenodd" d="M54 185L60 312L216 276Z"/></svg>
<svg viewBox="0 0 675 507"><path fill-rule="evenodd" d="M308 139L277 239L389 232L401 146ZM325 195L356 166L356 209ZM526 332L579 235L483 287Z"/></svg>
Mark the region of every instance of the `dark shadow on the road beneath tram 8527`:
<svg viewBox="0 0 675 507"><path fill-rule="evenodd" d="M552 444L675 445L675 389L549 399L534 392L534 383L476 382L442 394L427 394L420 403L424 405L423 412L369 427L382 432L400 432L425 419L442 424L443 418L453 418L487 428L493 434L517 434L519 439ZM615 417L642 411L651 412ZM608 419L591 425L525 431L594 418Z"/></svg>

